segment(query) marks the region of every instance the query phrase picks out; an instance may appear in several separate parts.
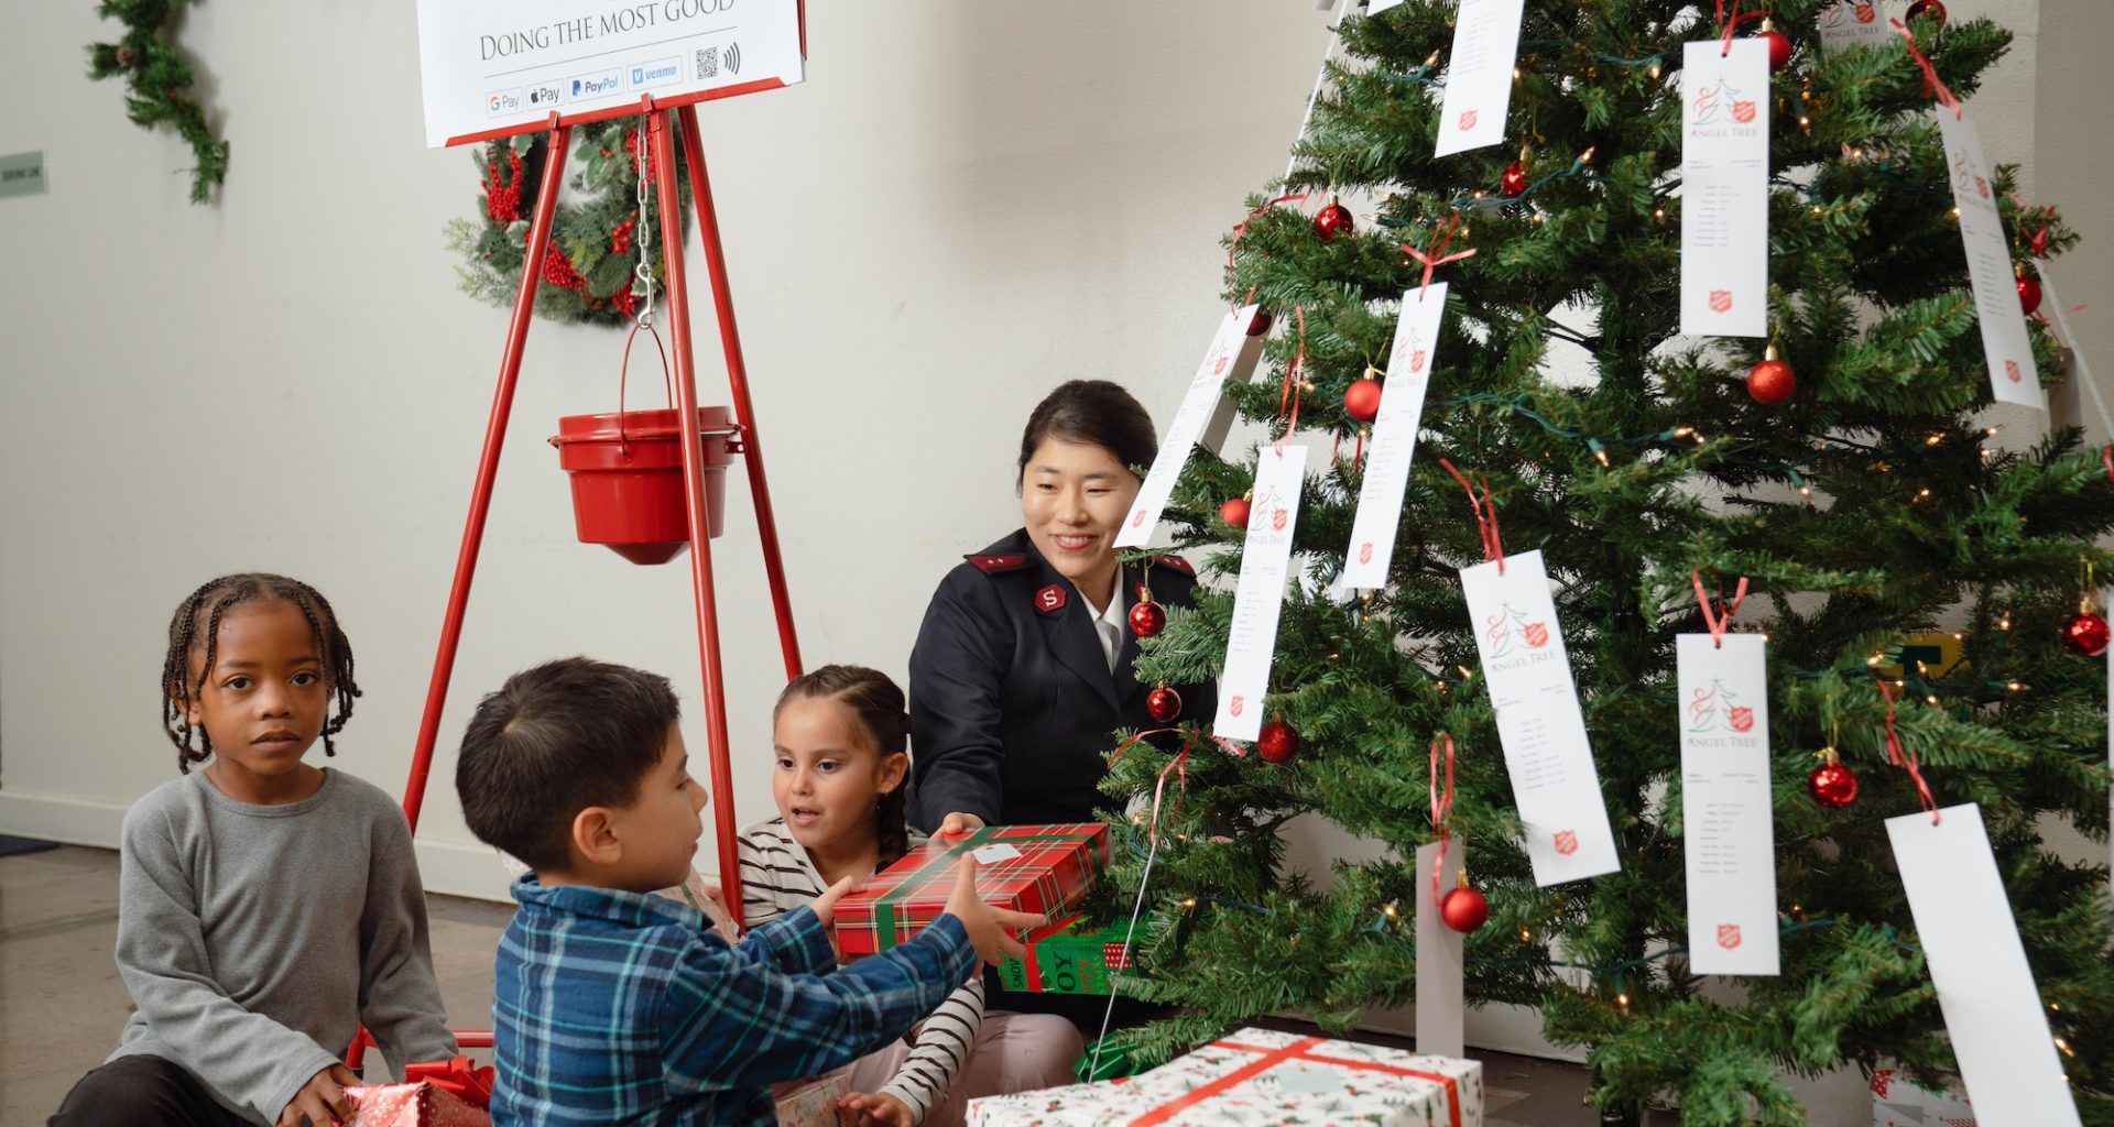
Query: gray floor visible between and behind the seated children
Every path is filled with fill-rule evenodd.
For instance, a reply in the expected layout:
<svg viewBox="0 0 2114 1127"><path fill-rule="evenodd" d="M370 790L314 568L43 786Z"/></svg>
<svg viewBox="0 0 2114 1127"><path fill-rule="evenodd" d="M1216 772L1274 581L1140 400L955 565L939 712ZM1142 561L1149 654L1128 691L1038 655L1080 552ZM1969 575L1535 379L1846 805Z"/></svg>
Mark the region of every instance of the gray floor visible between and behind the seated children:
<svg viewBox="0 0 2114 1127"><path fill-rule="evenodd" d="M0 856L0 1127L42 1123L116 1045L131 1009L110 962L118 858L61 846ZM512 909L431 897L433 968L457 1028L490 1026L493 947ZM1586 1127L1579 1068L1478 1053L1486 1127ZM1668 1123L1672 1123L1668 1119Z"/></svg>

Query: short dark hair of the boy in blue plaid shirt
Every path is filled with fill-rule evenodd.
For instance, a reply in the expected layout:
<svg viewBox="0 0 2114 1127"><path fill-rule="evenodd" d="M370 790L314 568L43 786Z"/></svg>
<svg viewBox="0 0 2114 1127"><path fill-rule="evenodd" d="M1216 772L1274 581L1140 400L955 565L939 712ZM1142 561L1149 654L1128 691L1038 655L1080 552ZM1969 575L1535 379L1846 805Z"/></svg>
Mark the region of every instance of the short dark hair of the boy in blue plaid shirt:
<svg viewBox="0 0 2114 1127"><path fill-rule="evenodd" d="M463 820L531 869L564 869L573 818L636 801L679 715L674 687L657 672L590 658L516 672L478 702L463 732L455 759Z"/></svg>

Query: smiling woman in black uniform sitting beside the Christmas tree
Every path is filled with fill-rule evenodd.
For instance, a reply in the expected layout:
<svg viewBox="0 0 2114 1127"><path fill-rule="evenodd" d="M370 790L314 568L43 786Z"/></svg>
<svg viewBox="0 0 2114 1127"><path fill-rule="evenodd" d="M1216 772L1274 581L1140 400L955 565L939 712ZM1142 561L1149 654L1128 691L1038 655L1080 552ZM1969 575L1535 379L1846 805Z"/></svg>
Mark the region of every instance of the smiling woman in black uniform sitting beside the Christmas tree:
<svg viewBox="0 0 2114 1127"><path fill-rule="evenodd" d="M1158 450L1152 417L1123 387L1072 381L1021 436L1023 526L947 573L911 649L911 823L932 831L1093 820L1116 727L1154 721L1131 672L1129 611L1186 607L1194 571L1175 556L1116 562L1137 499L1133 465ZM1211 685L1175 685L1180 719L1218 708Z"/></svg>

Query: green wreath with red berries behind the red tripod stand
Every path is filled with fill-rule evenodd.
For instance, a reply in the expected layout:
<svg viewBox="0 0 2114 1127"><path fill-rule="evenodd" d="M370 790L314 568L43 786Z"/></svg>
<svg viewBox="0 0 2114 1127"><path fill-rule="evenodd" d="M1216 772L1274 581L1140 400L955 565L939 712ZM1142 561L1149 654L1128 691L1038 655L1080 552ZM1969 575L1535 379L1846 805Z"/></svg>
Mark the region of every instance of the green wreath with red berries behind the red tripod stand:
<svg viewBox="0 0 2114 1127"><path fill-rule="evenodd" d="M613 118L575 129L573 192L581 203L560 203L552 218L550 250L537 266L543 285L535 309L554 321L592 326L630 324L638 309L632 269L638 264L638 121ZM501 137L476 154L484 186L484 220L448 220L448 250L463 256L455 269L463 292L497 307L512 307L528 252L528 218L550 159L550 133ZM689 218L689 180L676 150L683 218ZM649 186L651 190L651 186ZM685 224L687 228L687 224ZM662 243L655 201L653 237ZM666 245L666 243L662 243ZM653 277L666 277L660 247Z"/></svg>

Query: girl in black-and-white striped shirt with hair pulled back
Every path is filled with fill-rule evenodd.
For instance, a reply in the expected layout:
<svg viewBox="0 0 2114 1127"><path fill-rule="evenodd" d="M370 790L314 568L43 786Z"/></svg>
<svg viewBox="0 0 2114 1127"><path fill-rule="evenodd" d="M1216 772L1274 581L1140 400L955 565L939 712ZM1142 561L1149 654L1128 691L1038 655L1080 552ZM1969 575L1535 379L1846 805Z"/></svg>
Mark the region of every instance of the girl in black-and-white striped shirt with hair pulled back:
<svg viewBox="0 0 2114 1127"><path fill-rule="evenodd" d="M786 685L772 715L778 818L742 833L748 926L814 901L841 877L865 880L913 837L903 689L863 666L822 666ZM843 1068L850 1127L960 1125L968 1100L1072 1083L1078 1030L1055 1015L985 1013L970 977L901 1042Z"/></svg>

